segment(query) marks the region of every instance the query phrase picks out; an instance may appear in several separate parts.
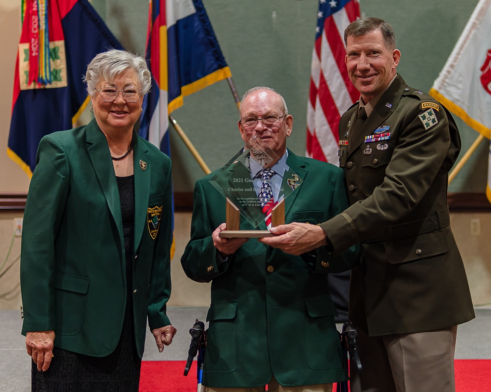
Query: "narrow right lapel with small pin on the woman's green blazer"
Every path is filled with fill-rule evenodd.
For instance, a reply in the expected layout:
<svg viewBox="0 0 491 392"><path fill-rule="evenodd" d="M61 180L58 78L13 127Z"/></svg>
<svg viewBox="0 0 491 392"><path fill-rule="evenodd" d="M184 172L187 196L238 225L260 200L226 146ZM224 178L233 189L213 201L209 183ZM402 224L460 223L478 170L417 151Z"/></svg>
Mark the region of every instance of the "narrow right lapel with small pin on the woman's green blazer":
<svg viewBox="0 0 491 392"><path fill-rule="evenodd" d="M135 252L140 244L143 230L147 223L148 197L150 192L150 177L152 172L152 162L147 155L148 149L138 143L135 135L135 147L133 155L133 165L135 172Z"/></svg>

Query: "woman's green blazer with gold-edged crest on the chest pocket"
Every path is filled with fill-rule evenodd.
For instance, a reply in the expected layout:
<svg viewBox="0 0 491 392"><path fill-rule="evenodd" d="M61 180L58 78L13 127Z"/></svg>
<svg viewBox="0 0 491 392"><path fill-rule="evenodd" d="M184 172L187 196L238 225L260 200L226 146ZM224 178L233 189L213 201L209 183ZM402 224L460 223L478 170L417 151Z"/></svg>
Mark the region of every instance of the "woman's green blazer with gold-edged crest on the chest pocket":
<svg viewBox="0 0 491 392"><path fill-rule="evenodd" d="M133 154L133 305L141 357L147 317L150 329L170 324L172 183L170 159L157 147L135 135ZM56 347L96 357L116 347L126 303L125 249L116 176L95 120L39 144L24 215L21 291L24 335L55 330Z"/></svg>

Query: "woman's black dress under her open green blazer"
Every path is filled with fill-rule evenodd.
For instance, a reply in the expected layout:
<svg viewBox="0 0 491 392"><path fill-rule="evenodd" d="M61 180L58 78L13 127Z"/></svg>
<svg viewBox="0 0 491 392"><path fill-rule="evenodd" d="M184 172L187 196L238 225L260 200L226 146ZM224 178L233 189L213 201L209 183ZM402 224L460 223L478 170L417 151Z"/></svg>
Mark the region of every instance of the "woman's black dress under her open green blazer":
<svg viewBox="0 0 491 392"><path fill-rule="evenodd" d="M38 371L32 361L32 392L137 392L141 359L136 353L133 321L132 261L135 221L134 176L116 177L126 250L126 309L123 330L107 357L91 357L55 347L50 368ZM101 320L100 322L104 322ZM56 337L55 337L56 341Z"/></svg>

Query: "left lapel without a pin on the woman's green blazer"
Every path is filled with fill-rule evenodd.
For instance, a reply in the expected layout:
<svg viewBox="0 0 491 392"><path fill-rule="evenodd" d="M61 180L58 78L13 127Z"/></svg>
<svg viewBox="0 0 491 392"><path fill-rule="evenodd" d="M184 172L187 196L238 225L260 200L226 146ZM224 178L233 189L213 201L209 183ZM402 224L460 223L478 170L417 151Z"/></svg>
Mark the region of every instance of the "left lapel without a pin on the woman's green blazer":
<svg viewBox="0 0 491 392"><path fill-rule="evenodd" d="M87 153L99 179L99 184L106 197L116 227L118 228L121 245L123 245L123 222L121 218L118 184L116 182L116 175L114 174L108 141L104 133L99 129L95 119L87 124L86 129Z"/></svg>

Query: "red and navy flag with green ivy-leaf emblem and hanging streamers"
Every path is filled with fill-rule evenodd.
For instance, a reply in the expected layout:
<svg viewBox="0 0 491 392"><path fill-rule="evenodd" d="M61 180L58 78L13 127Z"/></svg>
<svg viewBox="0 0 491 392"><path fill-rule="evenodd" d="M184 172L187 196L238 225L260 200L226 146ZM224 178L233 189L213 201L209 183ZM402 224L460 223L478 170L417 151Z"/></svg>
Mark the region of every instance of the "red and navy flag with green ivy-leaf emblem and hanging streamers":
<svg viewBox="0 0 491 392"><path fill-rule="evenodd" d="M122 47L87 0L51 0L47 9L45 1L25 4L7 154L30 177L41 138L72 128L88 104L87 64Z"/></svg>

